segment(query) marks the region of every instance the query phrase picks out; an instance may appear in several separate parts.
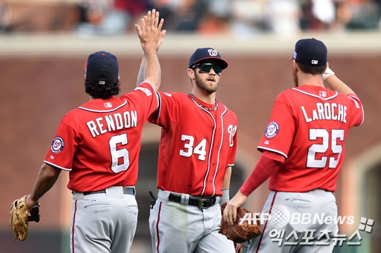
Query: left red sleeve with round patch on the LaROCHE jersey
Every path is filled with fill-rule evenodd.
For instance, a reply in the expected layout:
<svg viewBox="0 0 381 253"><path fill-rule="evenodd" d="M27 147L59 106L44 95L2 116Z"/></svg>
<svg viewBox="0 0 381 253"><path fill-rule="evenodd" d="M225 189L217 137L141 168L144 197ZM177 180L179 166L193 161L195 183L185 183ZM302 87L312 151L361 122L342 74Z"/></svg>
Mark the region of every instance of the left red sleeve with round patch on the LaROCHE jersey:
<svg viewBox="0 0 381 253"><path fill-rule="evenodd" d="M295 131L296 118L293 109L278 98L272 107L270 121L257 149L260 152L264 150L275 152L287 158Z"/></svg>

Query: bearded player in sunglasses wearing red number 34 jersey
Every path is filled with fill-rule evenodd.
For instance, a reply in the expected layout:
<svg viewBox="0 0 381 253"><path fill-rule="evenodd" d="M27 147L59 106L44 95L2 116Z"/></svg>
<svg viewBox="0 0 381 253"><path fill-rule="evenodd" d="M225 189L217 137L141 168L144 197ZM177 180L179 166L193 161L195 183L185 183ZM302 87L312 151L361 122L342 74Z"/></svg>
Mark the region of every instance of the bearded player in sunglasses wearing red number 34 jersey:
<svg viewBox="0 0 381 253"><path fill-rule="evenodd" d="M158 92L159 109L148 119L162 127L150 212L155 253L235 252L218 233L237 147L236 114L215 93L227 66L215 49L199 48L188 65L192 92Z"/></svg>

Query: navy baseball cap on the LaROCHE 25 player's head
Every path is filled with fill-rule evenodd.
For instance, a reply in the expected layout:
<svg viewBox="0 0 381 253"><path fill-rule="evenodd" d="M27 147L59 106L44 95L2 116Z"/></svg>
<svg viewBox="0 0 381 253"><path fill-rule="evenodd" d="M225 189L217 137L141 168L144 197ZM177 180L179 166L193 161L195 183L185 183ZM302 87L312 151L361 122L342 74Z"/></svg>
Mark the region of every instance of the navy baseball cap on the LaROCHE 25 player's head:
<svg viewBox="0 0 381 253"><path fill-rule="evenodd" d="M318 39L300 39L295 44L294 58L297 63L308 66L325 66L327 47Z"/></svg>

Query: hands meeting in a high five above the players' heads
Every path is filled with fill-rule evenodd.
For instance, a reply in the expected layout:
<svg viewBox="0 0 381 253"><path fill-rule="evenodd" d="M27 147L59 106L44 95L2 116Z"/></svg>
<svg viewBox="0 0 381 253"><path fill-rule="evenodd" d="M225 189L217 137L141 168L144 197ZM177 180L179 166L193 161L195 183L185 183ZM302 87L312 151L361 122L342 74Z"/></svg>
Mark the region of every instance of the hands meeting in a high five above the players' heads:
<svg viewBox="0 0 381 253"><path fill-rule="evenodd" d="M147 50L147 47L155 47L159 50L162 45L166 30L162 30L164 19L159 21L159 12L153 9L147 12L147 16L141 19L142 26L135 24L136 32L140 39L140 45L143 51Z"/></svg>

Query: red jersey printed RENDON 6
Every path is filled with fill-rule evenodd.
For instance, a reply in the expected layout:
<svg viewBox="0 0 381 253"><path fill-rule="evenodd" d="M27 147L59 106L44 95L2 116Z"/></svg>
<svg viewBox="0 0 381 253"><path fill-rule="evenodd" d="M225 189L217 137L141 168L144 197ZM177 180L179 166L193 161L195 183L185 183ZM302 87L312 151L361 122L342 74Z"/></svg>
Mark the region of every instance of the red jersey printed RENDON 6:
<svg viewBox="0 0 381 253"><path fill-rule="evenodd" d="M150 83L111 99L94 99L69 111L44 162L69 173L68 188L78 192L133 186L143 124L157 109Z"/></svg>

